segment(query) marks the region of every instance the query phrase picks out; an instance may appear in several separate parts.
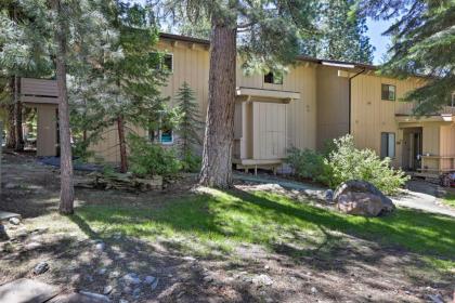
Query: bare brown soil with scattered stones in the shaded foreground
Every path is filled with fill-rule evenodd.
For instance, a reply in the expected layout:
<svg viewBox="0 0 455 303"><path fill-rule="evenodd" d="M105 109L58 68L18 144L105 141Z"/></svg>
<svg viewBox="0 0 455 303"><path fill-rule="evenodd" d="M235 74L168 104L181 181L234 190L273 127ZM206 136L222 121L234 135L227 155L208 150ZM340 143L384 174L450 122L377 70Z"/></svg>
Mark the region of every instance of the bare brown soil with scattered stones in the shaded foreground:
<svg viewBox="0 0 455 303"><path fill-rule="evenodd" d="M0 209L21 213L23 221L8 224L11 239L0 242L0 284L32 277L63 289L99 293L112 286L113 302L428 302L437 294L448 302L452 298L455 273L428 272L417 255L348 235L330 233L328 238L340 240L315 246L312 254L299 258L285 242L274 253L245 245L236 248L235 258L202 259L160 241L102 239L86 222L57 214L58 182L58 171L34 157L3 157ZM186 195L194 182L187 176L164 192L146 194L77 188L76 206L120 199L131 207L159 208L169 198ZM35 276L32 268L41 261L50 269ZM134 286L128 289L120 281L128 273L158 277L158 286L142 287L134 297Z"/></svg>

